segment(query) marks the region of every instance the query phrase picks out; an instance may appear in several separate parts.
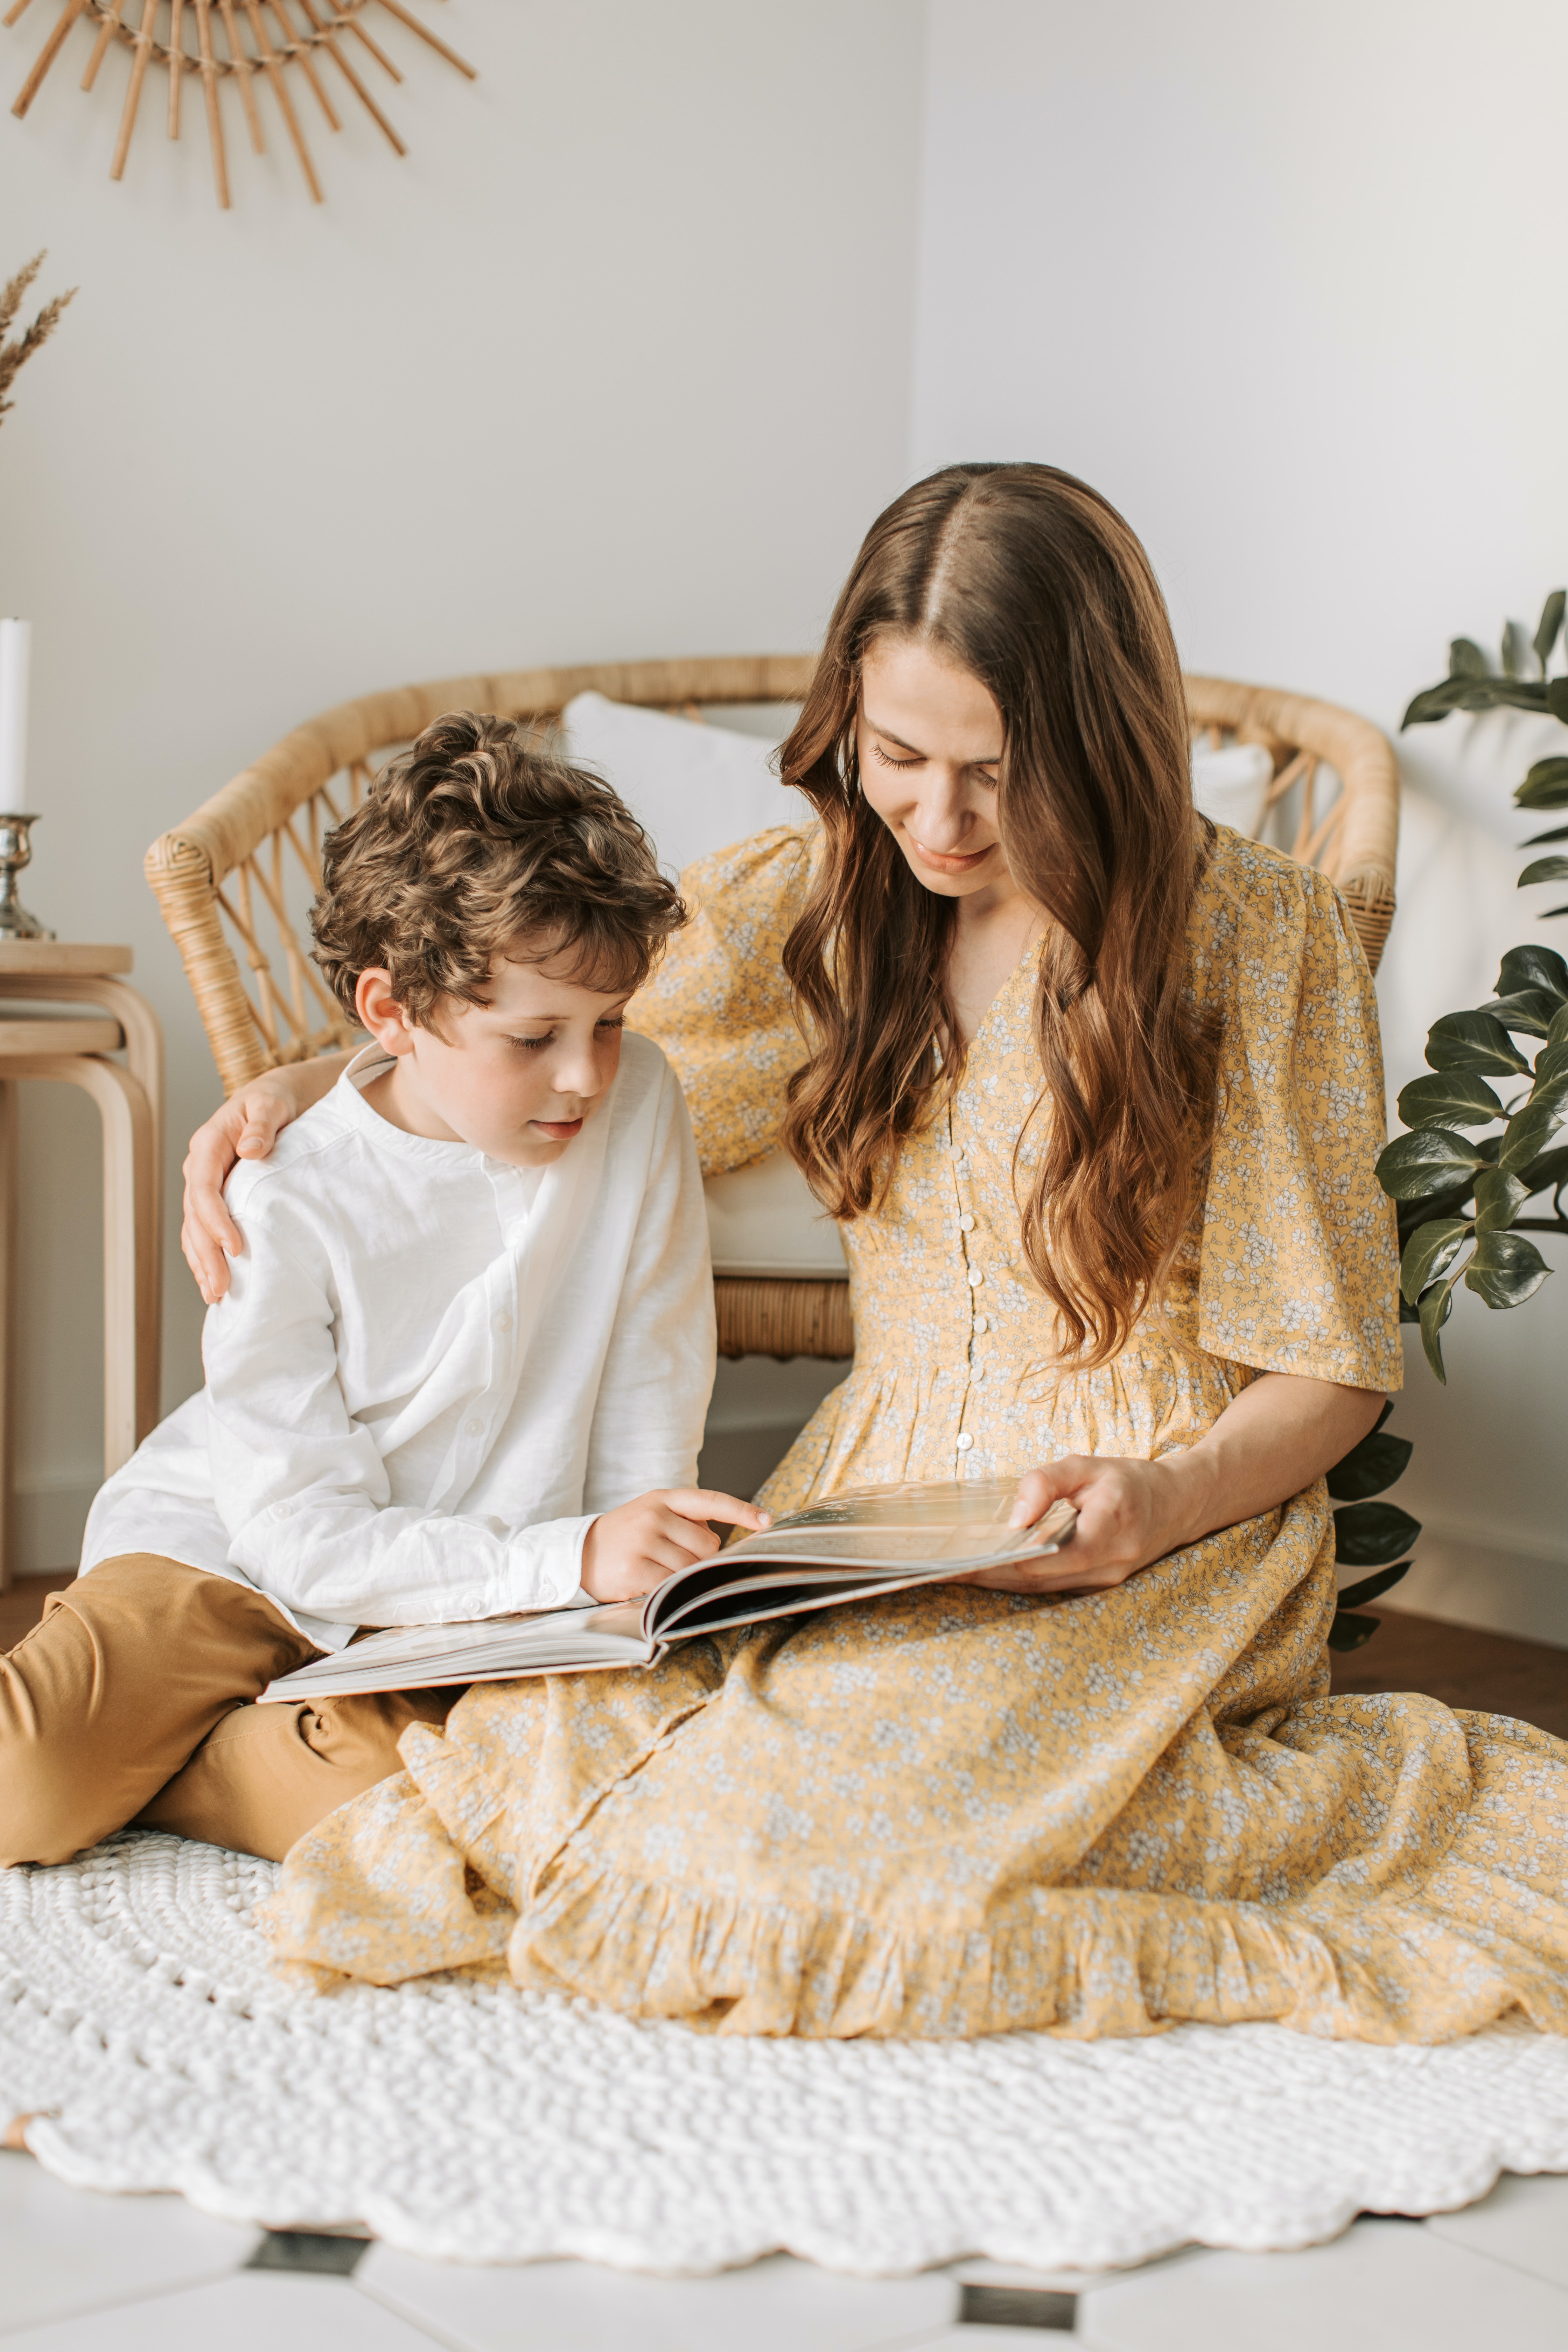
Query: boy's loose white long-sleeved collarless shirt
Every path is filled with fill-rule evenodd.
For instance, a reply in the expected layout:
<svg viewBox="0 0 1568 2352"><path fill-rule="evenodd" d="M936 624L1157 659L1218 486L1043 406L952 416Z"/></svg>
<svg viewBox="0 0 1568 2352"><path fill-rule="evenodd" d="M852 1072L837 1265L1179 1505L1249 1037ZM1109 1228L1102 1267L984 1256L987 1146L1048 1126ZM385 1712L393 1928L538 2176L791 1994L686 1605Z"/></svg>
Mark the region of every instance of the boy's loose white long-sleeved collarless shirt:
<svg viewBox="0 0 1568 2352"><path fill-rule="evenodd" d="M357 1625L578 1595L602 1510L689 1486L712 1390L691 1122L649 1037L545 1169L331 1094L240 1162L207 1385L99 1491L82 1573L162 1552L259 1585L322 1649Z"/></svg>

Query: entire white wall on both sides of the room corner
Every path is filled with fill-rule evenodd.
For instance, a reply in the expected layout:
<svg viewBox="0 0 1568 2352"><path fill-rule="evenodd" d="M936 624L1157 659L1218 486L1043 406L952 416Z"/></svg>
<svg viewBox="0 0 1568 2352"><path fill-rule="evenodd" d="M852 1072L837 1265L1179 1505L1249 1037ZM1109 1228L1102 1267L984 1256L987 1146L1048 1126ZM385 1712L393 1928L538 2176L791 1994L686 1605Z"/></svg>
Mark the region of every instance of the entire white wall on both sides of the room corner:
<svg viewBox="0 0 1568 2352"><path fill-rule="evenodd" d="M933 0L929 47L912 0L433 14L482 80L388 21L411 155L313 132L320 212L266 92L266 160L230 122L233 214L160 85L110 186L127 64L82 96L85 33L0 115L0 268L47 245L45 285L82 287L0 421L0 612L38 628L54 811L31 898L136 946L176 1143L216 1080L141 851L343 694L811 644L877 506L976 454L1114 496L1194 668L1387 727L1453 630L1568 569L1554 0L1497 0L1483 38L1458 0ZM42 28L0 33L5 92ZM1401 750L1396 1080L1533 929L1521 731ZM45 1089L26 1117L24 1541L54 1566L99 1449L96 1138ZM1396 1428L1436 1531L1410 1602L1568 1642L1554 1289L1465 1301L1450 1390L1415 1364ZM176 1261L167 1402L197 1312Z"/></svg>

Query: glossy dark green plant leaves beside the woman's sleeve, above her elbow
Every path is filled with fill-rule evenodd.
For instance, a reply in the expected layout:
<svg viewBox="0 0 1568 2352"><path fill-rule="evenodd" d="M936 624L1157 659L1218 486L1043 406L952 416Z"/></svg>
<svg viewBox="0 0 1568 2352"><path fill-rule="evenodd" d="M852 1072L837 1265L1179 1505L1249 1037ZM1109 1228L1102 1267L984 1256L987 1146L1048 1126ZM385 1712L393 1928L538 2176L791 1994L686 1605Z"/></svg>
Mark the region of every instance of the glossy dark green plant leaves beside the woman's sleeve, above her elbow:
<svg viewBox="0 0 1568 2352"><path fill-rule="evenodd" d="M1448 677L1415 696L1403 724L1420 727L1450 710L1533 710L1568 724L1568 677L1547 675L1566 607L1568 595L1554 588L1535 637L1509 621L1500 673L1479 644L1455 637ZM1530 656L1535 677L1523 675ZM1514 804L1568 807L1568 757L1537 760ZM1544 842L1568 842L1568 826L1533 833L1521 847ZM1533 858L1519 887L1530 882L1568 882L1568 856ZM1568 915L1568 906L1549 913ZM1533 1061L1519 1040L1540 1040ZM1462 1282L1488 1308L1519 1308L1552 1272L1530 1235L1568 1232L1568 1145L1552 1141L1568 1108L1563 957L1554 948L1509 948L1490 1002L1432 1023L1427 1063L1432 1075L1399 1096L1408 1134L1394 1136L1380 1155L1378 1181L1399 1204L1401 1319L1420 1322L1427 1362L1446 1383L1439 1334L1453 1312L1455 1287ZM1544 1214L1526 1216L1533 1202Z"/></svg>

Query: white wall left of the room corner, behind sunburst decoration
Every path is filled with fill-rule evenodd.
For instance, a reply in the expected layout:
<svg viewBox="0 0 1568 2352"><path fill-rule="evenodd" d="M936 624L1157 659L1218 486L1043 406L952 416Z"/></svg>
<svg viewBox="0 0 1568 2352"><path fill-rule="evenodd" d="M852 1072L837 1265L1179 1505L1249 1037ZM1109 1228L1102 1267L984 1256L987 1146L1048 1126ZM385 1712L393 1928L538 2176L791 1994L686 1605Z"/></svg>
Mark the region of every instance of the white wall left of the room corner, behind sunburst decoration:
<svg viewBox="0 0 1568 2352"><path fill-rule="evenodd" d="M28 898L134 943L176 1145L219 1087L141 880L165 826L369 687L811 647L903 477L919 7L428 14L480 82L386 19L411 153L357 111L317 132L303 96L322 209L263 92L273 153L230 118L219 214L200 103L169 148L160 78L110 186L127 52L82 96L82 31L26 122L0 115L0 273L47 245L45 287L80 285L0 423L0 612L35 623L49 800ZM49 21L0 35L7 103ZM101 1461L96 1138L56 1091L26 1089L38 1569L73 1557ZM197 1327L174 1258L169 1404Z"/></svg>

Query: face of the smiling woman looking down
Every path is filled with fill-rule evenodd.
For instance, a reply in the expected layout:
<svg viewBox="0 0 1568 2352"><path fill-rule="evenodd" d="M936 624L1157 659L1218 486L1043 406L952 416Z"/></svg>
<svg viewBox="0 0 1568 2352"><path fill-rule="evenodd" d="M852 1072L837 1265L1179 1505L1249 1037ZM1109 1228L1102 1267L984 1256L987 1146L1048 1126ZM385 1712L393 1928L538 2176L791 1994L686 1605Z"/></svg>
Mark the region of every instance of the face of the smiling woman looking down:
<svg viewBox="0 0 1568 2352"><path fill-rule="evenodd" d="M973 670L910 637L860 663L860 788L910 873L940 898L1011 891L997 837L1001 710Z"/></svg>

